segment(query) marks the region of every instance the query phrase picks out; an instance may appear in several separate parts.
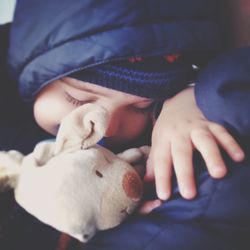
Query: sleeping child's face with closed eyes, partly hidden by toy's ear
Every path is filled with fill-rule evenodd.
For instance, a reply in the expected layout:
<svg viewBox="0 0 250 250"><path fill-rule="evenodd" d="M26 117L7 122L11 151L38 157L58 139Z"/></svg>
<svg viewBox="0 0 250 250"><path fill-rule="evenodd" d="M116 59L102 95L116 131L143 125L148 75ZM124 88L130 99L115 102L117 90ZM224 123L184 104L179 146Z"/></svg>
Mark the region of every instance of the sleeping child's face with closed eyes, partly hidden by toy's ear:
<svg viewBox="0 0 250 250"><path fill-rule="evenodd" d="M151 99L69 77L52 82L39 93L34 116L44 130L56 135L62 118L86 103L99 104L110 112L111 122L105 134L110 145L136 139L151 122Z"/></svg>

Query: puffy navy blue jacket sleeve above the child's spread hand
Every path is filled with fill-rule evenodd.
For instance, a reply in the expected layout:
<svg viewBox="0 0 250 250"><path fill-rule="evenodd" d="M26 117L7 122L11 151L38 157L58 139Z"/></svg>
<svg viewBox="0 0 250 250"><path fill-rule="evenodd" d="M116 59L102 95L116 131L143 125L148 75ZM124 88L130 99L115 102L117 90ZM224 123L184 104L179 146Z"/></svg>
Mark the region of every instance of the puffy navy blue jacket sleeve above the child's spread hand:
<svg viewBox="0 0 250 250"><path fill-rule="evenodd" d="M250 135L250 47L213 60L196 82L197 105L206 118L236 135Z"/></svg>

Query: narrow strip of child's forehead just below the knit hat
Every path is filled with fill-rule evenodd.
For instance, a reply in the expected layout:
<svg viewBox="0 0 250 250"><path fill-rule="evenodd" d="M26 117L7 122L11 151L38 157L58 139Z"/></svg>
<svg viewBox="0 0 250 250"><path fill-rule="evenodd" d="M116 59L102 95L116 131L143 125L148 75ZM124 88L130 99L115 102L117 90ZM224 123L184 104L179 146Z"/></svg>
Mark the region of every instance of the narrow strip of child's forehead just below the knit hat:
<svg viewBox="0 0 250 250"><path fill-rule="evenodd" d="M112 97L112 96L123 96L126 98L134 99L135 101L151 101L151 99L146 98L146 97L141 97L141 96L136 96L132 94L128 94L125 92L121 92L118 90L114 90L111 88L103 87L97 84L89 83L89 82L84 82L72 77L64 77L61 79L61 81L75 89L78 89L79 91L85 91L88 93L92 94L98 94L98 95L103 95L107 97Z"/></svg>

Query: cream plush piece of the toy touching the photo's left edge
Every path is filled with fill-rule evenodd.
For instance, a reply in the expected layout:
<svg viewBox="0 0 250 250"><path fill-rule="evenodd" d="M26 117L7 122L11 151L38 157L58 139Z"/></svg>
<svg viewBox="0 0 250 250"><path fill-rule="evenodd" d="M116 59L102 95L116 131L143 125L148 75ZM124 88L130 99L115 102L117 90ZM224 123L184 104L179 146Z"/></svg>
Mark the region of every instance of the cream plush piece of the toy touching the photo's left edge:
<svg viewBox="0 0 250 250"><path fill-rule="evenodd" d="M14 189L20 174L23 155L18 151L0 152L0 191Z"/></svg>

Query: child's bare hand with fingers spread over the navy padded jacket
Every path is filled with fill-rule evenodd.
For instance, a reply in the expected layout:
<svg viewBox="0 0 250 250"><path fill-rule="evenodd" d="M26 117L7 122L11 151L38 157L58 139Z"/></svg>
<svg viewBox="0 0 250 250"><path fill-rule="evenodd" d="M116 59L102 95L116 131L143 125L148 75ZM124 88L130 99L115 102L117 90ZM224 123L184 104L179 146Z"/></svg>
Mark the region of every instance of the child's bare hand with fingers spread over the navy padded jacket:
<svg viewBox="0 0 250 250"><path fill-rule="evenodd" d="M203 116L195 103L194 89L185 89L165 101L155 123L145 181L155 179L157 196L166 200L171 195L174 169L181 195L192 199L196 195L193 150L201 153L212 177L222 178L227 168L218 145L234 161L243 160L242 149L228 131Z"/></svg>

